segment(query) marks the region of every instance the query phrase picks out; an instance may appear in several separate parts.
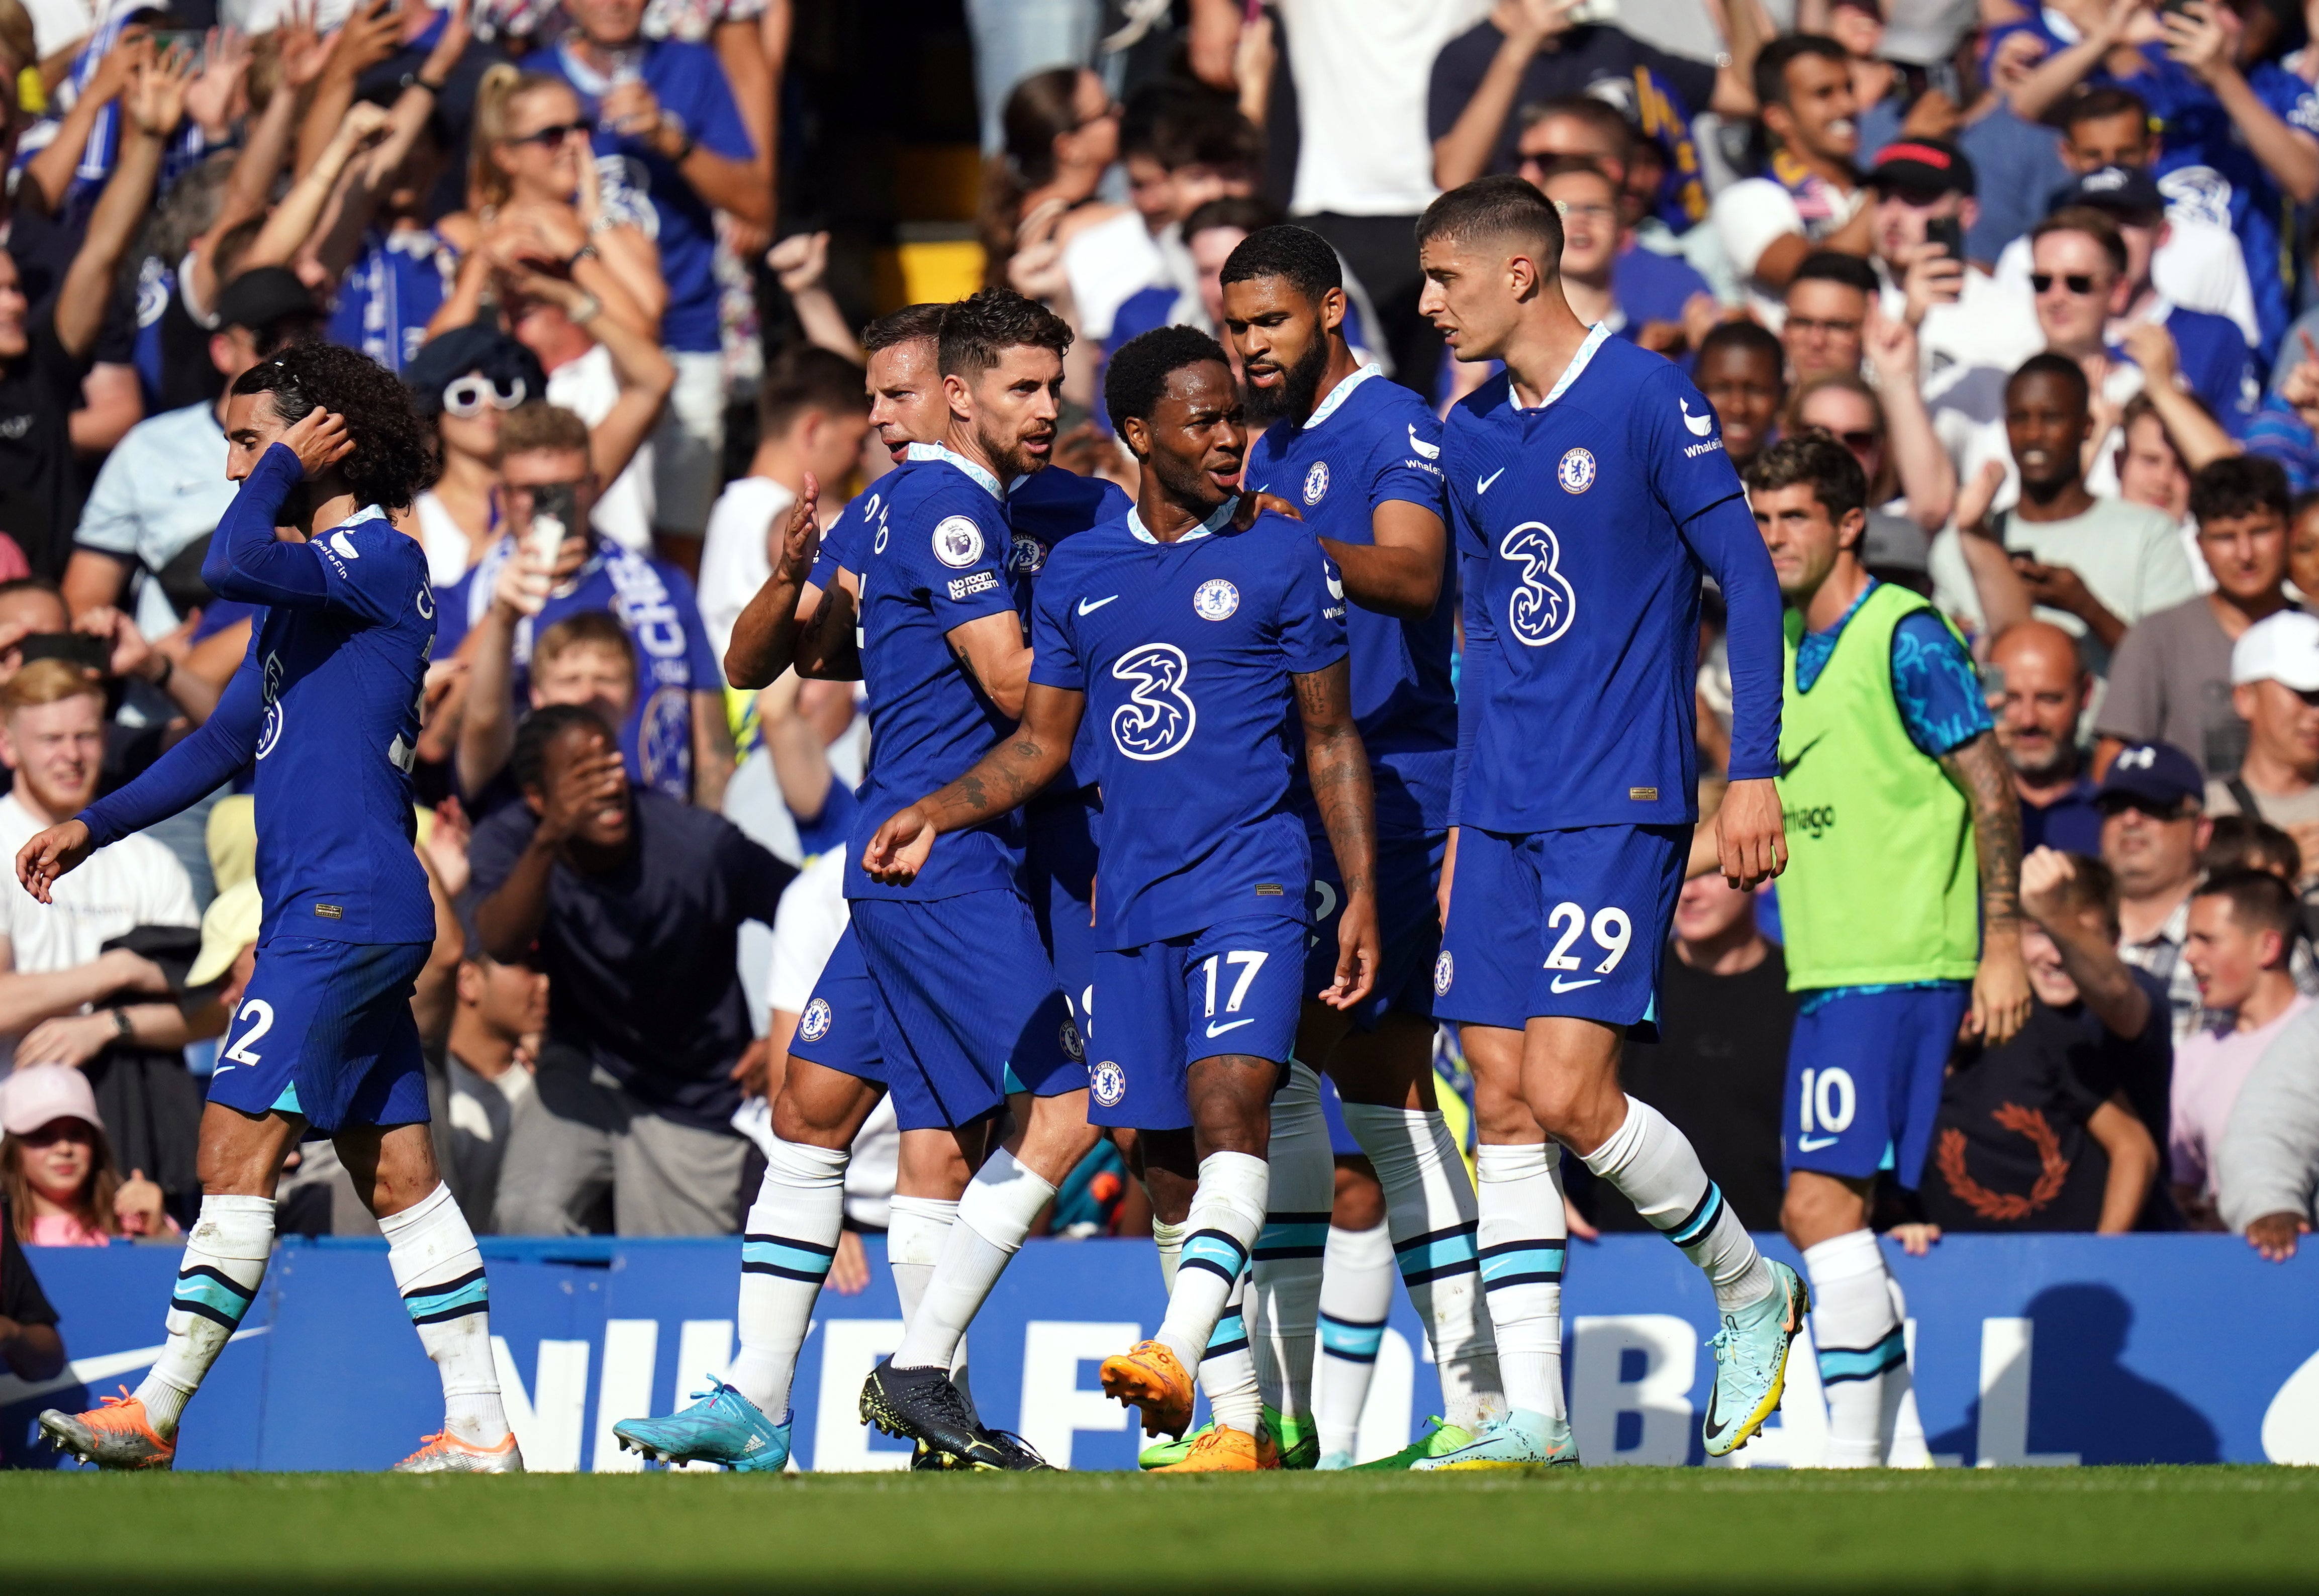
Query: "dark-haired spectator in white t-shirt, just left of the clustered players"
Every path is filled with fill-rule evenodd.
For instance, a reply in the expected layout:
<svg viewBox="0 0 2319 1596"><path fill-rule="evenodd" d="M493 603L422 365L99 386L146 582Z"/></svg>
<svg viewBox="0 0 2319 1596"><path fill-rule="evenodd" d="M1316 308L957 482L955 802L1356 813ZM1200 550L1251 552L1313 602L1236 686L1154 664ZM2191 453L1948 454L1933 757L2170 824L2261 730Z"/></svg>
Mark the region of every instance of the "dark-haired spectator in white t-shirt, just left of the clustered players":
<svg viewBox="0 0 2319 1596"><path fill-rule="evenodd" d="M717 496L700 545L700 624L719 659L733 622L772 575L772 538L788 524L805 480L821 483L821 503L839 508L837 485L851 476L867 436L870 394L858 364L814 346L775 360L756 399L749 473Z"/></svg>

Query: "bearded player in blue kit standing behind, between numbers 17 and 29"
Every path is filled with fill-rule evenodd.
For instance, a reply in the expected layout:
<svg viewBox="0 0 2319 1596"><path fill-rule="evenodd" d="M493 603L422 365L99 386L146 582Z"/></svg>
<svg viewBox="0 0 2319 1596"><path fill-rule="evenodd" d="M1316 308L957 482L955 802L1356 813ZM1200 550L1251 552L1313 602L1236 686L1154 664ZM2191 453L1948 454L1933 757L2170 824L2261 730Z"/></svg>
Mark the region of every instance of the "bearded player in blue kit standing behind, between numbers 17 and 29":
<svg viewBox="0 0 2319 1596"><path fill-rule="evenodd" d="M1405 1468L1473 1441L1505 1413L1482 1313L1473 1183L1433 1100L1438 886L1456 766L1440 422L1424 399L1354 357L1343 329L1343 267L1317 232L1252 232L1224 262L1222 295L1250 422L1268 422L1248 450L1245 485L1289 501L1343 573L1352 710L1377 796L1384 960L1359 1007L1317 1000L1336 965L1345 886L1299 779L1296 805L1313 847L1306 1011L1294 1079L1273 1102L1271 1213L1257 1239L1248 1329L1266 1422L1289 1466L1310 1466L1320 1454L1313 1343L1333 1153L1364 1153L1384 1188L1396 1262L1442 1380L1442 1422L1405 1454L1373 1464ZM1336 1086L1354 1146L1331 1148L1313 1069Z"/></svg>

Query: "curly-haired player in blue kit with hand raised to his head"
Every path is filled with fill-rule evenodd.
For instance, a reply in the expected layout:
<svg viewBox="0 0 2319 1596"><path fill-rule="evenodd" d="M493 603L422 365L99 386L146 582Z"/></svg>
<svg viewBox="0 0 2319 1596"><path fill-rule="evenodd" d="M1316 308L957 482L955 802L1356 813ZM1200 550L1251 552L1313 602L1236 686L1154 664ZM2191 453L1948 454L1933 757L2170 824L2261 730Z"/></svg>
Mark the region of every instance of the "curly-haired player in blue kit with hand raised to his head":
<svg viewBox="0 0 2319 1596"><path fill-rule="evenodd" d="M434 473L392 371L301 343L234 380L227 476L241 483L202 561L220 598L264 605L216 712L139 779L16 854L42 902L107 842L176 814L257 761L257 972L202 1111L202 1218L167 1343L135 1396L42 1413L65 1452L169 1468L186 1401L257 1297L274 1190L329 1137L387 1234L387 1264L443 1376L443 1431L397 1468L522 1473L492 1364L475 1236L436 1169L410 991L436 912L413 851L410 766L434 647L427 554L387 522Z"/></svg>

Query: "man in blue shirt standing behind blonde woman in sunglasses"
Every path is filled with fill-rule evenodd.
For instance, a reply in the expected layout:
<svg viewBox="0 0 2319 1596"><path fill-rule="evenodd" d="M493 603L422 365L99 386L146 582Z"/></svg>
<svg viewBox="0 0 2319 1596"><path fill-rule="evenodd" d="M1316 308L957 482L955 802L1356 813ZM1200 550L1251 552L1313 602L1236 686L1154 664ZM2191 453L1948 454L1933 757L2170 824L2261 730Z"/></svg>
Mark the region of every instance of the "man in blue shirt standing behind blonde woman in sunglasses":
<svg viewBox="0 0 2319 1596"><path fill-rule="evenodd" d="M714 211L772 225L772 172L756 148L717 51L642 35L642 0L568 0L573 32L543 51L596 123L605 213L642 220L661 248L668 311L661 343L677 362L668 420L654 436L654 524L700 538L724 450L724 357L717 334Z"/></svg>

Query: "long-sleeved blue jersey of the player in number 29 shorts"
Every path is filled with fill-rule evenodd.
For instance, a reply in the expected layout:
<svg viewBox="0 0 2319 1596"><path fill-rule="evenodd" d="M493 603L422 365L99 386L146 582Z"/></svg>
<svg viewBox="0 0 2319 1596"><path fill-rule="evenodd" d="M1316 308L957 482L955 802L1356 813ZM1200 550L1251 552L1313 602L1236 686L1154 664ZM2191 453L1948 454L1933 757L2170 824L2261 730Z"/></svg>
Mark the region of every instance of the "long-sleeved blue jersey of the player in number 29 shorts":
<svg viewBox="0 0 2319 1596"><path fill-rule="evenodd" d="M1732 777L1776 770L1781 610L1723 429L1595 327L1544 404L1449 411L1466 580L1454 819L1503 833L1695 819L1700 575L1730 608Z"/></svg>

